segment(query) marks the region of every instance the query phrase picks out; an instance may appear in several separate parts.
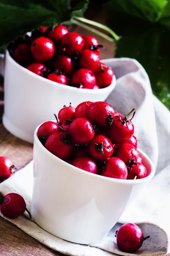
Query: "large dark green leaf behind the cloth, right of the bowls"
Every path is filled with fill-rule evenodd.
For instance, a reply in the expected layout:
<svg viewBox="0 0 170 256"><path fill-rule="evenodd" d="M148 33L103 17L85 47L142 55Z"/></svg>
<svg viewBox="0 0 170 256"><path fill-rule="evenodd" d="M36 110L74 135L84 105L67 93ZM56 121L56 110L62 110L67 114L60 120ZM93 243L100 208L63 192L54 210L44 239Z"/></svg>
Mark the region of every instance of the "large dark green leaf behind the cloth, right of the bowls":
<svg viewBox="0 0 170 256"><path fill-rule="evenodd" d="M150 78L153 93L170 109L170 30L158 22L118 12L113 2L105 8L108 26L122 36L116 45L116 57L139 61ZM160 18L163 20L163 16Z"/></svg>

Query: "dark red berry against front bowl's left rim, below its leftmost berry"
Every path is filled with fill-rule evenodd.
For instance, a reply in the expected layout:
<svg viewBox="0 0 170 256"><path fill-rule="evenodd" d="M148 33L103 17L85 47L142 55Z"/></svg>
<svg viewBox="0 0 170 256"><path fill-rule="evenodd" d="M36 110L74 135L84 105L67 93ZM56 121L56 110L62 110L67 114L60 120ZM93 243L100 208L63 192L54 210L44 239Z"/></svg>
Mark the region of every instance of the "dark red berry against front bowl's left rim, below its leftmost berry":
<svg viewBox="0 0 170 256"><path fill-rule="evenodd" d="M51 134L46 143L47 148L52 154L64 160L71 156L74 150L74 143L68 139L67 134L63 132L56 132Z"/></svg>

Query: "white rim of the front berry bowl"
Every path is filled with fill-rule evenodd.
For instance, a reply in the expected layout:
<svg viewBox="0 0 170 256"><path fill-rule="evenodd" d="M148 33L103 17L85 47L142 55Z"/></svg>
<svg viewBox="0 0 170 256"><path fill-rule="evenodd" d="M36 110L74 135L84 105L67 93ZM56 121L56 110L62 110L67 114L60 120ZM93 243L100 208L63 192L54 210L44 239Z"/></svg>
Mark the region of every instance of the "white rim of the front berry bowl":
<svg viewBox="0 0 170 256"><path fill-rule="evenodd" d="M55 120L51 120L51 121L55 122ZM40 124L40 125L42 125L42 124ZM105 176L102 176L102 175L96 175L96 174L91 173L91 172L85 172L84 170L79 169L76 166L73 166L73 165L65 162L64 160L60 159L59 157L55 156L50 151L48 151L48 149L46 149L45 146L42 145L42 143L40 142L40 140L38 139L38 136L37 136L37 131L38 131L38 128L40 127L40 125L38 125L37 128L34 131L34 144L37 143L42 148L42 150L45 152L45 154L48 155L48 157L51 157L52 159L57 160L59 162L62 161L62 163L65 164L66 167L70 166L75 171L82 173L82 175L92 175L91 177L94 176L94 177L96 177L96 179L102 179L102 180L107 180L109 182L119 183L119 184L126 184L126 185L137 185L137 184L149 182L153 178L153 176L155 175L155 167L154 167L152 161L147 156L147 154L145 154L140 148L137 148L137 151L139 152L140 155L142 155L147 160L147 162L150 164L150 167L151 167L150 174L145 178L138 179L138 180L122 180L122 179L116 179L116 178L111 178L111 177L105 177ZM34 152L33 152L33 154L34 154Z"/></svg>

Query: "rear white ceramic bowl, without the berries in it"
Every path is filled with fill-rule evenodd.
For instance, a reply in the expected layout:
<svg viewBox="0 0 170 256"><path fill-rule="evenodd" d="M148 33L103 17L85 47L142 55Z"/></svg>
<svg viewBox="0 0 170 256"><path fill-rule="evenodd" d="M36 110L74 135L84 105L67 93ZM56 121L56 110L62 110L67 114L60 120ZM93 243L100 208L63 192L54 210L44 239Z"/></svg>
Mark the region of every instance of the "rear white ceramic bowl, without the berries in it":
<svg viewBox="0 0 170 256"><path fill-rule="evenodd" d="M105 61L109 65L108 60L102 60ZM65 86L37 76L17 64L6 52L3 125L11 134L33 143L37 125L54 119L54 113L63 105L71 102L76 107L84 101L105 101L115 85L113 76L112 84L99 90Z"/></svg>

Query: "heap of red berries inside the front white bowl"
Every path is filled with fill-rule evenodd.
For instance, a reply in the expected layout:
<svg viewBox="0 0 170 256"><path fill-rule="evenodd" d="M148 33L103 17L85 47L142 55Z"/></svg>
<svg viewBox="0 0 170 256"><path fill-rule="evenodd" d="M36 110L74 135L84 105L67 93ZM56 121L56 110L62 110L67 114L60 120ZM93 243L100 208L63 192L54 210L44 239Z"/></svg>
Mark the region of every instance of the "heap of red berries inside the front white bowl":
<svg viewBox="0 0 170 256"><path fill-rule="evenodd" d="M133 114L132 114L133 113ZM128 116L132 114L131 119ZM57 122L44 122L37 137L55 156L79 169L117 179L147 177L133 135L134 109L123 116L106 102L64 106Z"/></svg>

